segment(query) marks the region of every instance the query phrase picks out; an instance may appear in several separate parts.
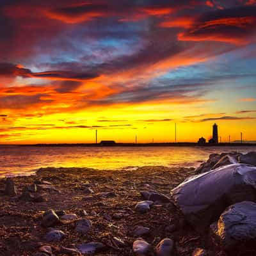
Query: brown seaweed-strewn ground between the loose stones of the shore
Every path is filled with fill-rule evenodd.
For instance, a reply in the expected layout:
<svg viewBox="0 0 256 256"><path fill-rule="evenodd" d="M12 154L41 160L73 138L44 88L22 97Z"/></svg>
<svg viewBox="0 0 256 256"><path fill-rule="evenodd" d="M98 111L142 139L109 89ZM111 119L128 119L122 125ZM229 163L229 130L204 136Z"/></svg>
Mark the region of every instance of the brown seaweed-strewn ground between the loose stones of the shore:
<svg viewBox="0 0 256 256"><path fill-rule="evenodd" d="M182 214L172 204L154 205L145 214L134 211L134 205L141 201L141 191L156 190L170 195L172 188L194 174L194 168L163 166L147 166L126 172L44 168L35 175L13 177L17 196L12 197L3 194L5 180L0 179L0 236L4 237L0 241L0 255L30 256L42 245L52 246L54 255L65 255L60 253L63 247L74 248L74 244L96 241L106 244L107 248L105 253L97 255L134 255L132 243L137 237L134 236L137 226L150 228L149 234L142 236L147 237L150 243L157 244L160 238L172 237L179 255L191 255L196 247L207 248L209 245L204 237L198 237L193 228L184 224ZM31 193L42 196L42 202L20 199L24 188L35 182L49 184L41 187L38 184L38 191ZM108 193L113 196L104 196ZM42 214L49 209L77 214L79 220L86 218L92 221L92 230L81 236L74 232L77 220L61 221L56 228L65 233L64 239L47 242L44 240L47 228L42 227ZM83 215L83 210L88 216ZM116 219L115 216L119 217ZM177 223L180 224L176 230L168 230ZM124 248L116 246L113 237L122 239ZM211 246L209 248L214 250Z"/></svg>

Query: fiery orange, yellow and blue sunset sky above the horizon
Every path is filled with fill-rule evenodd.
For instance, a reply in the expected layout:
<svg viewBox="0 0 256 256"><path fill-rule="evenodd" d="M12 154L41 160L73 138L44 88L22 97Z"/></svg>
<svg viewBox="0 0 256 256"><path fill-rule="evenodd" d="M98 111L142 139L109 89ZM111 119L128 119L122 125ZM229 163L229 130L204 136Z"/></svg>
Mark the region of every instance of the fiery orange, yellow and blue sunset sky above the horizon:
<svg viewBox="0 0 256 256"><path fill-rule="evenodd" d="M256 0L1 0L0 143L256 141Z"/></svg>

